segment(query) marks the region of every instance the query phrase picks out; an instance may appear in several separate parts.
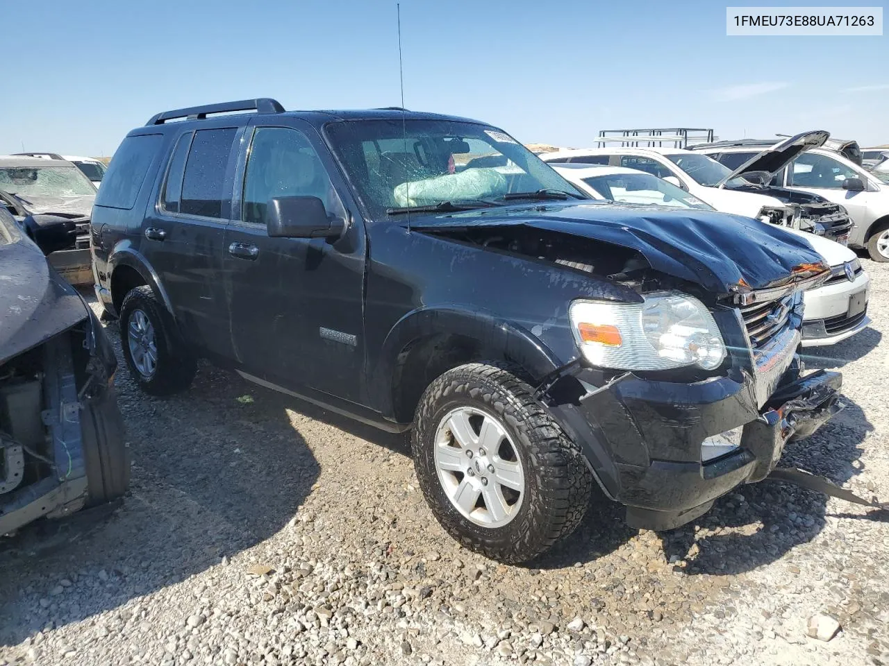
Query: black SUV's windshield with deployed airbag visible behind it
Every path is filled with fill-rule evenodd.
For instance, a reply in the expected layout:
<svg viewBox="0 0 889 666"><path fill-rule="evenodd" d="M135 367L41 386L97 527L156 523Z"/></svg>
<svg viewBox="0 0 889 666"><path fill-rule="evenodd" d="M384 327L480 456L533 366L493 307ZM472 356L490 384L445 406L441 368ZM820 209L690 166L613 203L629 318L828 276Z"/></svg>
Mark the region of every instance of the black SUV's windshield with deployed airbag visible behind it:
<svg viewBox="0 0 889 666"><path fill-rule="evenodd" d="M327 132L374 214L586 198L516 139L485 125L360 121L334 123Z"/></svg>

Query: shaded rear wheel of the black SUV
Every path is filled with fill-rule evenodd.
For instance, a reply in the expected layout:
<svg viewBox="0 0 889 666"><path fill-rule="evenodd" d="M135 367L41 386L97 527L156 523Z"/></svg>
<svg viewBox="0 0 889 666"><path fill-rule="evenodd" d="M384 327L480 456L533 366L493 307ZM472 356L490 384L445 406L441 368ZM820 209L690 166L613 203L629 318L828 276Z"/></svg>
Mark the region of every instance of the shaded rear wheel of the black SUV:
<svg viewBox="0 0 889 666"><path fill-rule="evenodd" d="M195 358L172 315L147 285L131 289L124 297L120 336L130 374L145 392L170 395L191 384Z"/></svg>

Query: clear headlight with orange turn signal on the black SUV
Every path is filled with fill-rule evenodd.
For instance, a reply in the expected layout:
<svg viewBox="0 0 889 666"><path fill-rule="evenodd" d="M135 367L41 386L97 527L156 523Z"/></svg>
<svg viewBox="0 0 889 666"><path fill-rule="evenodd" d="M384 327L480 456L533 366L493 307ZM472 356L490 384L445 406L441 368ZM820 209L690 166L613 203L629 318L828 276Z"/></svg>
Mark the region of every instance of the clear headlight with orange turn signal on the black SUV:
<svg viewBox="0 0 889 666"><path fill-rule="evenodd" d="M716 321L695 297L678 291L645 295L644 303L577 300L571 304L574 338L599 368L669 370L697 365L712 370L725 359Z"/></svg>

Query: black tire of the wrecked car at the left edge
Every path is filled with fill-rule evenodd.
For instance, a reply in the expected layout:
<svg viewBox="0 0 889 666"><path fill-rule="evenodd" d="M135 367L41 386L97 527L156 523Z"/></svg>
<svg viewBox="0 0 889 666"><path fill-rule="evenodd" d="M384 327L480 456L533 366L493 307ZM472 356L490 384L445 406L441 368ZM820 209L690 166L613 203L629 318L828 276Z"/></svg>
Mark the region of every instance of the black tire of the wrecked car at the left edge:
<svg viewBox="0 0 889 666"><path fill-rule="evenodd" d="M80 412L84 442L87 506L124 496L130 485L130 448L114 390L105 399L88 402Z"/></svg>

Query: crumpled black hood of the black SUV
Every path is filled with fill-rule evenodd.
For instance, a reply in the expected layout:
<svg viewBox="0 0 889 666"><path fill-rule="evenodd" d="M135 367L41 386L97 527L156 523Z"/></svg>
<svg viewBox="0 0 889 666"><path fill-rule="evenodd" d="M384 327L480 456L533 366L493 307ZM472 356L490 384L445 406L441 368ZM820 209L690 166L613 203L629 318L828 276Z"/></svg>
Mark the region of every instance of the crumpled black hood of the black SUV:
<svg viewBox="0 0 889 666"><path fill-rule="evenodd" d="M411 221L412 229L432 233L478 226L527 226L610 242L637 250L661 273L717 294L745 285L764 289L788 281L794 269L823 266L808 242L781 227L710 210L547 202Z"/></svg>

